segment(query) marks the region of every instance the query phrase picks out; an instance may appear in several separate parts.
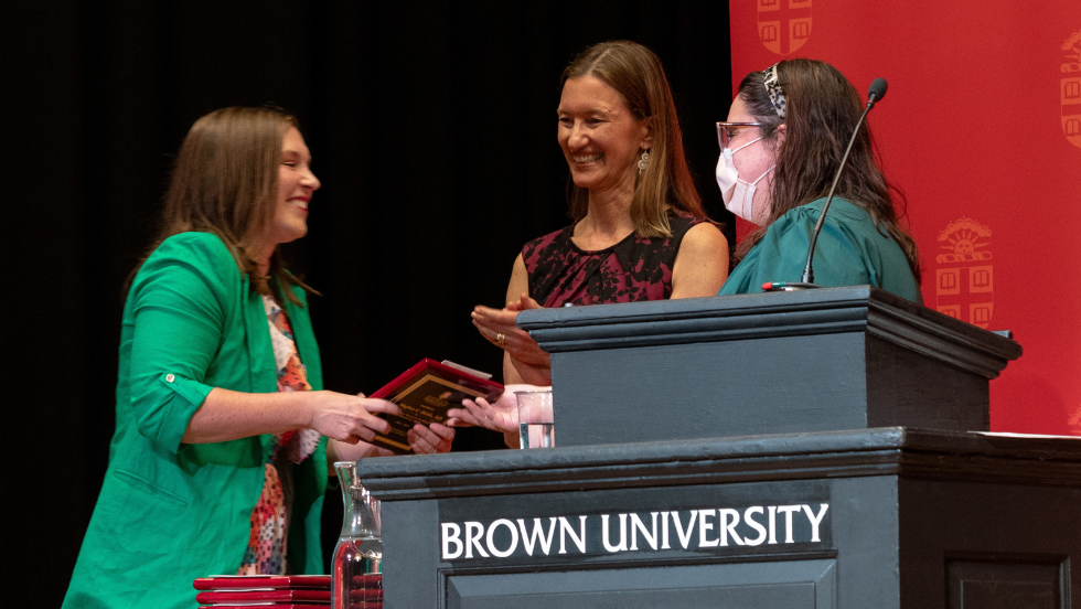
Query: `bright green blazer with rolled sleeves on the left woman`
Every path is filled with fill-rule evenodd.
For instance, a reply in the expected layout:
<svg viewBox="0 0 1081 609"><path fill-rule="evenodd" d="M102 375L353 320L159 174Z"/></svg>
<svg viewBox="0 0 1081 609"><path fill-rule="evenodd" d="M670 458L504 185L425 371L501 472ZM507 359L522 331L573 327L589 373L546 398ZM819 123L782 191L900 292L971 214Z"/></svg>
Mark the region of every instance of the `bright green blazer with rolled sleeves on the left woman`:
<svg viewBox="0 0 1081 609"><path fill-rule="evenodd" d="M308 381L321 389L308 310L289 302L286 310ZM181 437L214 387L277 391L263 300L218 237L169 237L139 269L124 308L118 376L109 467L64 607L190 609L193 579L240 566L271 436L204 445ZM325 439L295 467L293 485L290 570L323 573Z"/></svg>

